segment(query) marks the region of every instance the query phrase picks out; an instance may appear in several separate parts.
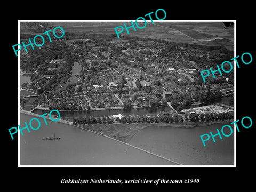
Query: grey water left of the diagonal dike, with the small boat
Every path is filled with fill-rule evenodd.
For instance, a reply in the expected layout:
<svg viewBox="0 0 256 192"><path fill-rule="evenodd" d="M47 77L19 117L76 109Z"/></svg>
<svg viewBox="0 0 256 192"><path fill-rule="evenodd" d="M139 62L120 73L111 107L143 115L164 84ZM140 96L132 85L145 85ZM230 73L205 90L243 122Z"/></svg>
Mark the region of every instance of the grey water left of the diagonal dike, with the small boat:
<svg viewBox="0 0 256 192"><path fill-rule="evenodd" d="M32 118L21 113L20 126L25 127L24 122ZM103 135L48 119L45 125L43 118L38 119L38 130L23 130L20 135L20 165L175 165ZM32 126L38 123L33 121ZM54 133L61 139L42 140Z"/></svg>

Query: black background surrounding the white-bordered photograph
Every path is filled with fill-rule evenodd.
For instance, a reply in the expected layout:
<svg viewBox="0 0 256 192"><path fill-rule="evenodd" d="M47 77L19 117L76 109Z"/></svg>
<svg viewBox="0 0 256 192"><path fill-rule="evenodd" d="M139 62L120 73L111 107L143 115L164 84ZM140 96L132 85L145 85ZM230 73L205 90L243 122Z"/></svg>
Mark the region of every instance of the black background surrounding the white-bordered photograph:
<svg viewBox="0 0 256 192"><path fill-rule="evenodd" d="M9 11L2 12L2 183L10 188L22 190L82 189L101 187L103 189L127 189L142 187L182 190L224 190L238 186L246 188L253 185L252 167L254 166L254 129L255 114L252 112L254 102L254 65L255 43L253 20L254 5L250 3L223 4L212 1L204 4L195 2L161 3L151 2L143 5L132 2L23 2L9 5ZM253 119L250 129L241 128L236 132L236 167L18 167L18 137L11 139L8 129L18 125L18 57L12 45L18 43L18 20L135 20L143 15L162 8L166 11L165 20L236 20L236 55L244 52L252 54L249 65L241 63L236 70L236 116L242 119L249 116ZM4 11L4 9L3 9ZM223 25L224 26L224 25ZM114 30L114 29L113 29ZM231 58L230 58L231 59ZM239 60L238 60L239 61ZM219 64L219 63L217 63ZM200 179L198 184L60 184L62 178L90 180L96 179ZM3 188L4 188L3 186ZM17 189L17 190L20 190Z"/></svg>

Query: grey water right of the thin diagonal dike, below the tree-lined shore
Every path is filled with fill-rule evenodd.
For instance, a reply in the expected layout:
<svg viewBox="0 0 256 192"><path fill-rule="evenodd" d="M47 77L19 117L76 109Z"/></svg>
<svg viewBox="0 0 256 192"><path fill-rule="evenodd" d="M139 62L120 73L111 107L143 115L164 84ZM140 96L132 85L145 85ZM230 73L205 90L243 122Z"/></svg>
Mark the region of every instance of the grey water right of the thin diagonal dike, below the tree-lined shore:
<svg viewBox="0 0 256 192"><path fill-rule="evenodd" d="M211 136L205 141L205 147L200 135L217 134L223 125L217 123L208 126L180 128L169 126L148 126L135 134L129 143L148 150L183 165L234 165L234 126L230 137ZM229 134L229 130L224 130Z"/></svg>

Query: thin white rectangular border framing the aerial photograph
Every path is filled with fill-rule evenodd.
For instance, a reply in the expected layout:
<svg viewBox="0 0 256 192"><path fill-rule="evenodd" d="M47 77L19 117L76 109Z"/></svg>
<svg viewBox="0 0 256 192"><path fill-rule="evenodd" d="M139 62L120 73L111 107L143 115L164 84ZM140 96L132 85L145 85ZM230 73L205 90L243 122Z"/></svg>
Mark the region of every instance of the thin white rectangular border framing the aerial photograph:
<svg viewBox="0 0 256 192"><path fill-rule="evenodd" d="M18 20L18 43L20 43L20 22L130 22L130 21L135 22L135 20ZM138 21L143 22L142 20L138 20ZM146 21L150 22L151 20L146 20ZM154 22L234 22L234 57L236 57L236 20L153 20L153 21ZM236 121L236 67L235 67L234 73L235 73L234 120ZM20 122L20 52L18 52L18 122ZM113 138L110 138L110 139L113 139ZM116 140L116 141L119 141L119 140ZM122 142L122 141L119 141L119 142ZM129 143L125 143L125 142L122 142L122 143L129 145L131 147L134 147ZM134 148L137 148L137 147L134 147ZM137 148L137 149L140 149L140 148ZM153 154L144 149L140 149L140 150L143 150L152 155L161 157L159 155ZM162 157L162 158L167 159L165 157ZM20 165L20 132L19 132L18 133L18 167L236 167L236 131L234 127L234 165Z"/></svg>

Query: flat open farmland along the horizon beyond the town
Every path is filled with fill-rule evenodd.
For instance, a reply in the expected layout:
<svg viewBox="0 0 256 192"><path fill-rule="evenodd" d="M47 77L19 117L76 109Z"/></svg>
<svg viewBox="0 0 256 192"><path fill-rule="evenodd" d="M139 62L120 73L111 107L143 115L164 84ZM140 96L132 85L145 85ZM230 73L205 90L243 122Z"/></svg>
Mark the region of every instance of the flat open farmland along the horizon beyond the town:
<svg viewBox="0 0 256 192"><path fill-rule="evenodd" d="M131 26L126 21L109 22L49 22L52 28L61 26L65 32L76 34L115 34L114 28L117 26ZM138 22L139 26L143 26ZM21 34L32 33L26 24L21 22ZM33 27L32 27L33 28ZM118 31L121 28L117 29ZM173 42L195 43L199 45L225 46L227 49L234 50L234 27L225 27L222 22L161 22L150 21L143 29L129 29L128 35L125 28L122 36L146 37L153 39L165 39ZM216 40L217 39L217 40Z"/></svg>

